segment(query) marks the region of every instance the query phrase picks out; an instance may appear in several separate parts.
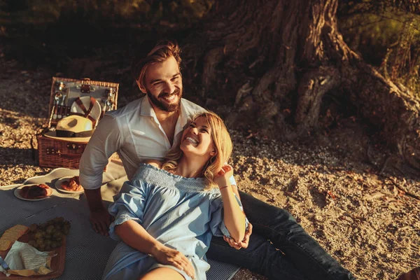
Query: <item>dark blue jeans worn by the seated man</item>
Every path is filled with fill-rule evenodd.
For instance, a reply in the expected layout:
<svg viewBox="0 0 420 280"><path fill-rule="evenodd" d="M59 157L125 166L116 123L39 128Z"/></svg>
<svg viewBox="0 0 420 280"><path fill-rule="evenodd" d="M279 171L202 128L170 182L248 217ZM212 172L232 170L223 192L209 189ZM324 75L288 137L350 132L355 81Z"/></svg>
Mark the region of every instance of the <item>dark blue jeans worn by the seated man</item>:
<svg viewBox="0 0 420 280"><path fill-rule="evenodd" d="M240 195L246 217L253 225L248 248L236 250L223 238L213 237L207 257L246 267L269 279L355 279L288 211L246 193Z"/></svg>

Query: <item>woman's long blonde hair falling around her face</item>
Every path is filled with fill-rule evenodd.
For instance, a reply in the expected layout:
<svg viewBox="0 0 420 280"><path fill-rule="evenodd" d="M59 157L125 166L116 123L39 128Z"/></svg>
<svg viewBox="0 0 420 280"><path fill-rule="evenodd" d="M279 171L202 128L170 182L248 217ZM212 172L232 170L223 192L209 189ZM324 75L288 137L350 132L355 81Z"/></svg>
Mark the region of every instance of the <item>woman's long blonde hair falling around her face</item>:
<svg viewBox="0 0 420 280"><path fill-rule="evenodd" d="M214 176L222 169L225 162L228 162L230 155L232 153L232 140L228 129L225 126L223 120L216 115L216 113L207 111L204 113L198 113L193 117L190 123L193 123L197 118L204 117L207 120L211 128L211 139L213 139L214 147L216 148L216 155L214 155L206 163L203 169L203 176L206 179L206 190L211 188L216 188L217 184L214 183ZM188 125L190 125L188 123ZM181 139L182 141L182 139ZM162 169L170 171L175 169L178 165L179 160L183 156L183 151L181 150L181 141L176 148L170 150L165 156L165 163L162 165Z"/></svg>

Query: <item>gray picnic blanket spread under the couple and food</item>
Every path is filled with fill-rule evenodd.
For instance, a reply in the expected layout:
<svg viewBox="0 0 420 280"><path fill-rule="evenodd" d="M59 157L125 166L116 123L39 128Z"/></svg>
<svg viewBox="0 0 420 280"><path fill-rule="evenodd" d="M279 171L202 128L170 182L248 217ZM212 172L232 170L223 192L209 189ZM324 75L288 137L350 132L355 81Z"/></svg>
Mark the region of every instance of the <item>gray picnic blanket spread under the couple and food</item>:
<svg viewBox="0 0 420 280"><path fill-rule="evenodd" d="M101 279L109 255L117 242L94 232L89 222L89 209L84 193L62 193L55 188L55 182L60 178L76 175L78 170L57 168L44 176L27 179L23 184L45 183L53 188L50 197L34 202L15 197L15 188L23 184L0 186L0 235L13 225L29 226L62 216L71 222L71 230L66 239L64 273L58 279ZM105 204L112 201L113 195L119 192L124 181L127 181L127 176L123 167L116 162L110 162L102 179L101 192ZM209 263L209 280L231 279L239 270L239 267L224 262L209 260Z"/></svg>

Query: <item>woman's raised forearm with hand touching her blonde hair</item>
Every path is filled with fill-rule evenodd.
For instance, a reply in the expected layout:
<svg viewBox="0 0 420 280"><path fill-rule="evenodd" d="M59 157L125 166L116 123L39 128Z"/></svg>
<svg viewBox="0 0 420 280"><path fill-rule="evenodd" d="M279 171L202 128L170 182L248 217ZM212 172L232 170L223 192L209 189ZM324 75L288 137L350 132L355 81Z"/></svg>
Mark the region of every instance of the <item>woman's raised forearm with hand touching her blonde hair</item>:
<svg viewBox="0 0 420 280"><path fill-rule="evenodd" d="M223 221L229 230L230 236L235 241L241 241L245 236L245 214L237 202L237 199L230 186L229 178L233 174L230 165L224 165L220 172L215 176L214 181L221 190L223 200Z"/></svg>

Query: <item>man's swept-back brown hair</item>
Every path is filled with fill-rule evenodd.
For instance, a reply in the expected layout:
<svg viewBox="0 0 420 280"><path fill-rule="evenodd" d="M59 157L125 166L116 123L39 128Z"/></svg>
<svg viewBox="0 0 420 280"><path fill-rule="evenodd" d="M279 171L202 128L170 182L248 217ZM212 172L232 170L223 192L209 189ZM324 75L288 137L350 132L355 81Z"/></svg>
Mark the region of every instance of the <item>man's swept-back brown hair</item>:
<svg viewBox="0 0 420 280"><path fill-rule="evenodd" d="M178 65L181 64L181 48L176 41L160 41L148 52L146 57L135 59L132 64L132 75L137 85L146 87L146 71L148 66L158 62L164 62L169 57L174 57Z"/></svg>

